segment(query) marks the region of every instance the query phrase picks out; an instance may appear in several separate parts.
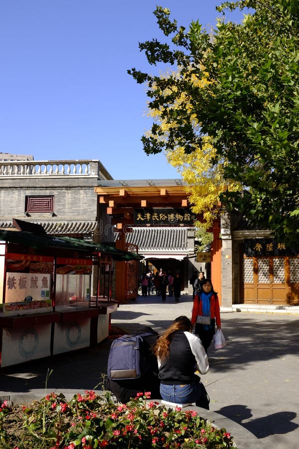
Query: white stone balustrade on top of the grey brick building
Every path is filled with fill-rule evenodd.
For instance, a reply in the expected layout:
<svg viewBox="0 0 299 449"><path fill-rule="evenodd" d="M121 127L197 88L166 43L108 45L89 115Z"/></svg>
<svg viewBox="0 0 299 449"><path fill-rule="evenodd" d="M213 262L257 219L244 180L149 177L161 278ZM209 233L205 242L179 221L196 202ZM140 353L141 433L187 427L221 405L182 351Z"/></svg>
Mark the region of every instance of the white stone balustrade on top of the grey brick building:
<svg viewBox="0 0 299 449"><path fill-rule="evenodd" d="M100 161L0 161L0 176L93 176L113 179Z"/></svg>

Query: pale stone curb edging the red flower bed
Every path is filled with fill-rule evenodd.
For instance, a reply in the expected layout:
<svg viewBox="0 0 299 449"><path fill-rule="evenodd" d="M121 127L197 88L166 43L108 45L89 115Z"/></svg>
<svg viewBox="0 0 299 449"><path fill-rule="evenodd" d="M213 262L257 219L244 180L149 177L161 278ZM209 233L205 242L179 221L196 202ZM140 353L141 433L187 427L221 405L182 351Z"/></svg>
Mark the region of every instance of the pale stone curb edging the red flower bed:
<svg viewBox="0 0 299 449"><path fill-rule="evenodd" d="M48 394L50 390L31 390L28 393L10 393L7 392L5 395L0 396L0 403L2 403L4 400L7 402L11 402L13 405L28 405L31 404L33 401L39 401L40 399L44 398L46 394ZM85 394L85 390L60 390L60 391L54 391L56 394L62 393L65 396L65 399L67 401L70 401L74 395L80 393ZM95 393L99 396L102 396L105 392L102 390L95 390ZM160 400L155 400L159 404L161 404ZM148 401L149 402L149 401ZM224 416L220 415L219 413L211 412L206 409L202 409L200 407L186 407L184 410L194 410L198 412L198 414L202 417L210 421L212 424L214 424L218 428L224 428L229 432L234 439L234 443L236 445L237 449L248 449L248 448L254 448L254 449L265 449L265 446L259 441L257 437L255 437L251 432L249 432L244 427L240 426L239 424L235 423L234 421L225 418Z"/></svg>

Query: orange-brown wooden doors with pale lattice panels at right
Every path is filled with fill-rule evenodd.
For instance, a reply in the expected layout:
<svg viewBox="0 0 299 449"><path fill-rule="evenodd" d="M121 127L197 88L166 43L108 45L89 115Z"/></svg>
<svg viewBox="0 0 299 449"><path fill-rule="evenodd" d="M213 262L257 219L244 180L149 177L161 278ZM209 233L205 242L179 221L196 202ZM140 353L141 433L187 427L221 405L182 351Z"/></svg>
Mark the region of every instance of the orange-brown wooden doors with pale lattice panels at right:
<svg viewBox="0 0 299 449"><path fill-rule="evenodd" d="M242 285L244 303L298 304L299 258L244 257Z"/></svg>

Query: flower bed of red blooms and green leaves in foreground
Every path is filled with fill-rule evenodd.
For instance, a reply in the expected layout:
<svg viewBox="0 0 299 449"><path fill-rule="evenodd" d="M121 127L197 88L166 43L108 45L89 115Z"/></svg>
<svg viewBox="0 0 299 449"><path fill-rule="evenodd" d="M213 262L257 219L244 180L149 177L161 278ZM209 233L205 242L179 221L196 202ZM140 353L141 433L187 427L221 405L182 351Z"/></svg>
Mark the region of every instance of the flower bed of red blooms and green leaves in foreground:
<svg viewBox="0 0 299 449"><path fill-rule="evenodd" d="M110 394L46 395L30 406L0 408L3 449L233 448L225 429L192 410L167 409L139 393L127 405Z"/></svg>

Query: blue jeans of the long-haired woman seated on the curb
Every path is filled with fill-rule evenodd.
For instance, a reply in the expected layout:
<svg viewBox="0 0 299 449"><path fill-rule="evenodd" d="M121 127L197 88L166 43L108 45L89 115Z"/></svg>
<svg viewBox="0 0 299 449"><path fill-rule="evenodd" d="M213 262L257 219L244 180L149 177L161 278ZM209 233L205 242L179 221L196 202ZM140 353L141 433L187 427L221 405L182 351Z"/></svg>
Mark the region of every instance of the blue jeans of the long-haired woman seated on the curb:
<svg viewBox="0 0 299 449"><path fill-rule="evenodd" d="M184 385L164 385L160 384L160 394L164 401L175 402L177 404L188 404L197 402L202 396L200 385L192 382Z"/></svg>

